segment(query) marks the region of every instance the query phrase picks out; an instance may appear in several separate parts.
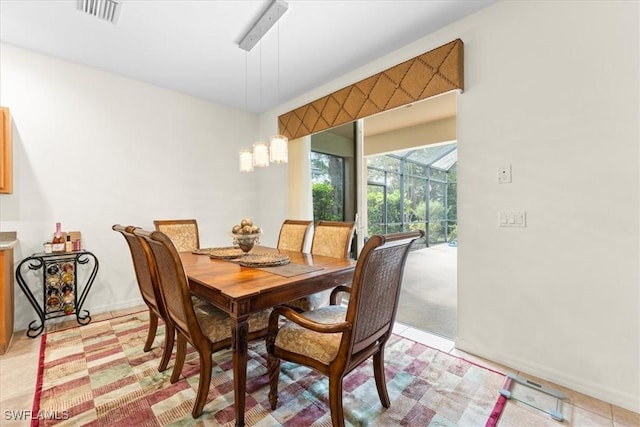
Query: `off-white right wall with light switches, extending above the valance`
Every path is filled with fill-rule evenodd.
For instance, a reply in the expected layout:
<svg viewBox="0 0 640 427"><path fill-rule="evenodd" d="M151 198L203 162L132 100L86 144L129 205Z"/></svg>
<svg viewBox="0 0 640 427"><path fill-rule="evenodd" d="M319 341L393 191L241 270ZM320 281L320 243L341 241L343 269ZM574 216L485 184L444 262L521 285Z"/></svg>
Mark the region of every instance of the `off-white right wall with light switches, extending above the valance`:
<svg viewBox="0 0 640 427"><path fill-rule="evenodd" d="M640 411L639 21L635 1L498 2L261 121L461 38L456 346Z"/></svg>

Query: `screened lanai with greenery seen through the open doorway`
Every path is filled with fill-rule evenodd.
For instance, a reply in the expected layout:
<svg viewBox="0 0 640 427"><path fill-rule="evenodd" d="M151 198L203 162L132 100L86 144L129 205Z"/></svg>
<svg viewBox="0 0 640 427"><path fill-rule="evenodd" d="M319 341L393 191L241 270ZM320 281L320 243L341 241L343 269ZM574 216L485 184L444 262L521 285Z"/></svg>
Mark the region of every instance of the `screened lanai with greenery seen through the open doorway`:
<svg viewBox="0 0 640 427"><path fill-rule="evenodd" d="M455 245L455 142L367 158L368 235L421 229L422 246Z"/></svg>

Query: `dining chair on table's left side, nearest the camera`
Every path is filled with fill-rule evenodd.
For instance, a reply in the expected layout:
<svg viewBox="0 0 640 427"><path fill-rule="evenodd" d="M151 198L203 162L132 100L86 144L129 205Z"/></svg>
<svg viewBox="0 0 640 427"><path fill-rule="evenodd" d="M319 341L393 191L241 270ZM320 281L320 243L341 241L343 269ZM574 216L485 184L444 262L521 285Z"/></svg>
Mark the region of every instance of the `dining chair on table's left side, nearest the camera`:
<svg viewBox="0 0 640 427"><path fill-rule="evenodd" d="M211 384L212 354L231 346L231 318L208 302L193 297L180 254L169 236L161 231L135 229L152 254L152 269L157 272L158 283L166 309L177 333L176 361L170 381L180 378L186 358L187 342L200 356L200 380L191 415L202 414ZM270 310L249 316L248 339L267 335Z"/></svg>

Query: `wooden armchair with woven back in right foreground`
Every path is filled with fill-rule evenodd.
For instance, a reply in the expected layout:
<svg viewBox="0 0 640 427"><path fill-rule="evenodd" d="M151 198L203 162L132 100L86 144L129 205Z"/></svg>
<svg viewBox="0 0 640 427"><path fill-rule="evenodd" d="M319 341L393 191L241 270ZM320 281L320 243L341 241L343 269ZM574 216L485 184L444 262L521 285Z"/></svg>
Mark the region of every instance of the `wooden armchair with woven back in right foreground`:
<svg viewBox="0 0 640 427"><path fill-rule="evenodd" d="M421 230L372 236L362 249L351 287L331 292L331 305L305 313L287 306L273 309L267 337L269 403L278 403L280 360L311 367L329 377L329 407L334 427L344 426L342 380L373 357L382 406L391 404L384 374L384 346L398 309L402 275L413 241ZM338 295L349 293L345 307ZM284 317L284 322L281 321Z"/></svg>

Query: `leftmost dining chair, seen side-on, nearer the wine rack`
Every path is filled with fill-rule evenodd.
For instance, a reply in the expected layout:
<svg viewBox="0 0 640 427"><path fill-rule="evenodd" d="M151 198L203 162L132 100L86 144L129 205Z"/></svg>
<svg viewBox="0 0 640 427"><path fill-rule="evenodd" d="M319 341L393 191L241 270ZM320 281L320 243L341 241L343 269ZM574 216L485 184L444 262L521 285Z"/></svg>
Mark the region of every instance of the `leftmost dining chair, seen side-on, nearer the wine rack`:
<svg viewBox="0 0 640 427"><path fill-rule="evenodd" d="M162 351L162 358L160 359L160 365L158 367L158 371L164 371L167 369L167 365L171 359L171 353L173 352L175 330L167 315L157 280L154 280L151 274L145 247L143 247L139 238L133 234L133 230L138 227L131 225L125 227L120 224L115 224L111 228L122 234L127 241L133 260L133 269L136 273L138 288L140 289L142 300L149 308L149 332L147 333L147 340L143 347L145 352L150 351L153 345L153 340L158 330L158 319L162 319L165 324L164 350Z"/></svg>

